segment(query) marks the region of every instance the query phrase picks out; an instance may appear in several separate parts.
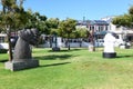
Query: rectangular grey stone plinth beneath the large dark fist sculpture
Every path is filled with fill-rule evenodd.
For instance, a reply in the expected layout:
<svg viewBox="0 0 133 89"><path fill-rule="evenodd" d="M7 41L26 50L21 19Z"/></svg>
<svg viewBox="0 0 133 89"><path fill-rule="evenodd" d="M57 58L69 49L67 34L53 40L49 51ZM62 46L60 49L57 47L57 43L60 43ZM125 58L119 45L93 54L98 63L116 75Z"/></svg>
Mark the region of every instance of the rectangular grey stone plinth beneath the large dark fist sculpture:
<svg viewBox="0 0 133 89"><path fill-rule="evenodd" d="M4 63L6 69L10 69L11 71L30 69L39 67L39 60L29 60L29 61L8 61Z"/></svg>

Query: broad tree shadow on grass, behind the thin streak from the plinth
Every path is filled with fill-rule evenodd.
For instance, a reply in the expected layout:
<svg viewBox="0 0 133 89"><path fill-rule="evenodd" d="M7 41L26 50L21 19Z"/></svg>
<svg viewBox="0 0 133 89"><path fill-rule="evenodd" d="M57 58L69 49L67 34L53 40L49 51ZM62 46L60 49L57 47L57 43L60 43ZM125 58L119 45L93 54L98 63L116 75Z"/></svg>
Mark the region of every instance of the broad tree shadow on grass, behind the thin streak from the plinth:
<svg viewBox="0 0 133 89"><path fill-rule="evenodd" d="M43 56L43 57L34 57L34 59L39 59L39 60L66 60L69 58L71 58L71 55L61 55L61 56L57 56L57 55L49 55L49 56Z"/></svg>

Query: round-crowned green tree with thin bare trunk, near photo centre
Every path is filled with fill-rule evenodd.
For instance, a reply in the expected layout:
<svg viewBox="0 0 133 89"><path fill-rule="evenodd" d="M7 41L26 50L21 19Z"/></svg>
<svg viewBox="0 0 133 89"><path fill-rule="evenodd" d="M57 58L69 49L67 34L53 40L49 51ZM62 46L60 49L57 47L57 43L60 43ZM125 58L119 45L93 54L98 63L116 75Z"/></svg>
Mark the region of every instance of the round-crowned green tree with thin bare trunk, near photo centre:
<svg viewBox="0 0 133 89"><path fill-rule="evenodd" d="M72 31L75 30L75 24L76 21L73 19L66 19L60 22L59 28L62 31L62 33L66 33L66 38L68 38L68 49L70 50L70 34L72 33Z"/></svg>

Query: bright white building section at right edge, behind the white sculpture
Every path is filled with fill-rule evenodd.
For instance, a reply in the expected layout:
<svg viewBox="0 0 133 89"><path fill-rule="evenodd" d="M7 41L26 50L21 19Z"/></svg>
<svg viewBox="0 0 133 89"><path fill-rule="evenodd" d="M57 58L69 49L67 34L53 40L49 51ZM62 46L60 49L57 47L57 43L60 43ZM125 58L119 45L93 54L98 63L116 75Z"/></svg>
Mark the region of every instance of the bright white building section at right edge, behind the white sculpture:
<svg viewBox="0 0 133 89"><path fill-rule="evenodd" d="M105 17L102 20L109 23L109 31L114 32L117 34L117 42L133 42L133 29L125 28L125 27L116 27L111 21L115 17Z"/></svg>

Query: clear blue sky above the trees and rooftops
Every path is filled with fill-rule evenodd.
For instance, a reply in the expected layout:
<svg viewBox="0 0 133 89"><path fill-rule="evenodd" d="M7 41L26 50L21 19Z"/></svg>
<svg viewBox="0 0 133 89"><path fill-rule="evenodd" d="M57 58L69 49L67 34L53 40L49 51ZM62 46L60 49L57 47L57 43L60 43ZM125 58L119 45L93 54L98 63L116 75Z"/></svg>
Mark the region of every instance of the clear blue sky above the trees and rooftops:
<svg viewBox="0 0 133 89"><path fill-rule="evenodd" d="M133 0L25 0L24 8L48 18L99 20L127 12Z"/></svg>

